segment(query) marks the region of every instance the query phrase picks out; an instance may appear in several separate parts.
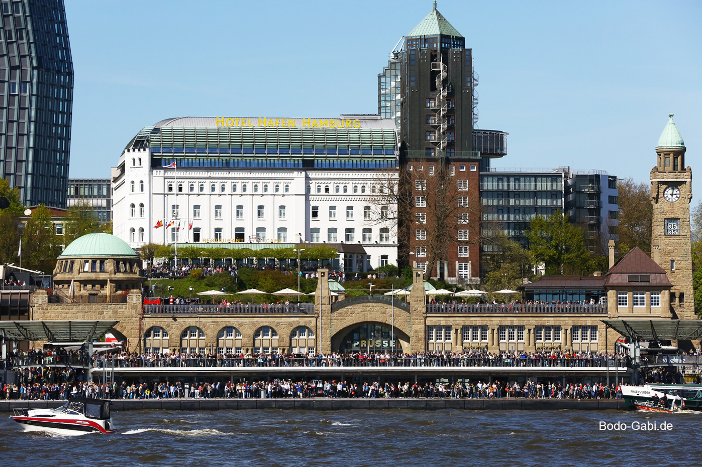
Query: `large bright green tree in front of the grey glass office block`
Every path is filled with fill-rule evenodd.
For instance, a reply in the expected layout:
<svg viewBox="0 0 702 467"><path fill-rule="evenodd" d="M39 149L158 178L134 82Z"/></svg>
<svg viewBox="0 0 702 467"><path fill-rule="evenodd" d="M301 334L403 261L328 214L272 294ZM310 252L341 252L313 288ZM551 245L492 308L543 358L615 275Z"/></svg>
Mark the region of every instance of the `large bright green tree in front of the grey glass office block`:
<svg viewBox="0 0 702 467"><path fill-rule="evenodd" d="M591 258L585 248L583 231L568 222L561 210L550 216L531 219L526 235L534 261L545 264L547 275L588 273Z"/></svg>

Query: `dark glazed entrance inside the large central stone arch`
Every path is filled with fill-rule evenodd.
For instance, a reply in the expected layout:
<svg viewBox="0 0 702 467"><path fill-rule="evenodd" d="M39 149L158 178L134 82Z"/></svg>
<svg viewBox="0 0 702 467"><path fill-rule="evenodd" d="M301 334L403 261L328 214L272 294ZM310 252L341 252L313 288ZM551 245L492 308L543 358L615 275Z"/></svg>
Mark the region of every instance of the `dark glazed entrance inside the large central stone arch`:
<svg viewBox="0 0 702 467"><path fill-rule="evenodd" d="M395 337L393 343L392 337ZM349 352L409 353L409 334L391 323L360 321L347 325L331 337L331 350Z"/></svg>

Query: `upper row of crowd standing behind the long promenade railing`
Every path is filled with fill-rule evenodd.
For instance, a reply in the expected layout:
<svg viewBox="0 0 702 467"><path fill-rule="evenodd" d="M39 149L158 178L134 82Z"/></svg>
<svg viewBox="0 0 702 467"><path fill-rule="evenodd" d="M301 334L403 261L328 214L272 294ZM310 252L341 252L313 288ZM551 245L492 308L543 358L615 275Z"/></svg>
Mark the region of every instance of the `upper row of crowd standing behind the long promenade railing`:
<svg viewBox="0 0 702 467"><path fill-rule="evenodd" d="M128 353L94 356L97 367L611 367L630 366L623 354L595 352L464 353ZM614 360L614 361L612 361ZM114 362L114 363L113 363Z"/></svg>

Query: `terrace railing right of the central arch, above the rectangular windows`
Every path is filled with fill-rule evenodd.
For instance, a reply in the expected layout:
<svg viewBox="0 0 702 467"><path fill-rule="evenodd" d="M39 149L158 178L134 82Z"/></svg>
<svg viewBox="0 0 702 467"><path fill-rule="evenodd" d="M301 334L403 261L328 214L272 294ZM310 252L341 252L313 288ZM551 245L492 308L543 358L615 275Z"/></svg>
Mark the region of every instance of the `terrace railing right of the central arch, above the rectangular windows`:
<svg viewBox="0 0 702 467"><path fill-rule="evenodd" d="M607 314L602 304L429 304L427 313L583 313Z"/></svg>

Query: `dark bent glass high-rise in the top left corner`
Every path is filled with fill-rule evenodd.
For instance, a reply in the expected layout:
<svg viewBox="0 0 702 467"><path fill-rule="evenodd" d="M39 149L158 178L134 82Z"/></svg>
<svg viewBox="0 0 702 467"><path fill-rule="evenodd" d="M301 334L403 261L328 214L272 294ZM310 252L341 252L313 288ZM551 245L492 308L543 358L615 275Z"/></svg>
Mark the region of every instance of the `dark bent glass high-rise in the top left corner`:
<svg viewBox="0 0 702 467"><path fill-rule="evenodd" d="M73 63L63 0L2 1L0 170L25 205L66 207Z"/></svg>

